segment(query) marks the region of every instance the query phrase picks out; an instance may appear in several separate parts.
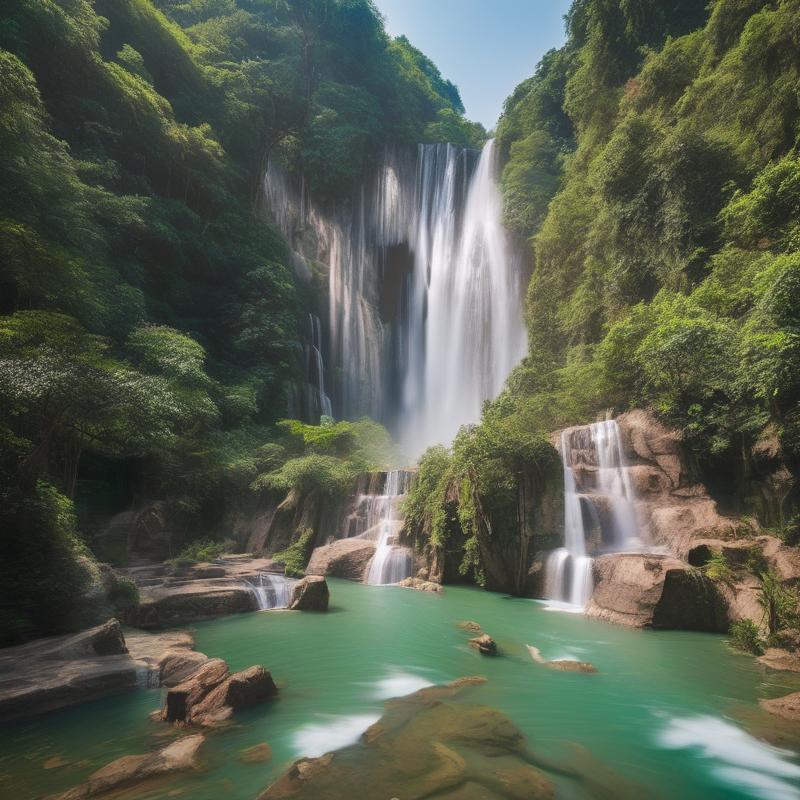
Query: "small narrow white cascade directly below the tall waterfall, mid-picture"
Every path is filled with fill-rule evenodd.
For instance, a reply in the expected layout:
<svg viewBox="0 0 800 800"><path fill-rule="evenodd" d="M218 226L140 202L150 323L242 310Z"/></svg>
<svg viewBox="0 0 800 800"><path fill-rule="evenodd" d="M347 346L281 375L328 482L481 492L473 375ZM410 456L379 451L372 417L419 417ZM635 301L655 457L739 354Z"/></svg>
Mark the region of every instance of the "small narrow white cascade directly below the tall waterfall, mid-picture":
<svg viewBox="0 0 800 800"><path fill-rule="evenodd" d="M382 495L376 495L370 507L370 521L373 525L363 534L363 538L373 538L377 534L378 546L369 567L367 583L378 586L399 583L411 575L414 557L407 547L397 547L394 539L402 527L398 514L398 501L408 491L410 473L393 470L386 474Z"/></svg>

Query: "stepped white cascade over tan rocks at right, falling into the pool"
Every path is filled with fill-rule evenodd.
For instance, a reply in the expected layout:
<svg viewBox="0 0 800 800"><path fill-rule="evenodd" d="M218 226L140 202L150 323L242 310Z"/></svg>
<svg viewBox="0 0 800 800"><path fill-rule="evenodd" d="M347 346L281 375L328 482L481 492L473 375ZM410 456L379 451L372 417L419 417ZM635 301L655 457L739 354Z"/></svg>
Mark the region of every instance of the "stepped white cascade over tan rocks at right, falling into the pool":
<svg viewBox="0 0 800 800"><path fill-rule="evenodd" d="M635 495L619 425L595 422L561 433L564 547L547 559L545 594L583 608L592 594L592 558L642 549Z"/></svg>

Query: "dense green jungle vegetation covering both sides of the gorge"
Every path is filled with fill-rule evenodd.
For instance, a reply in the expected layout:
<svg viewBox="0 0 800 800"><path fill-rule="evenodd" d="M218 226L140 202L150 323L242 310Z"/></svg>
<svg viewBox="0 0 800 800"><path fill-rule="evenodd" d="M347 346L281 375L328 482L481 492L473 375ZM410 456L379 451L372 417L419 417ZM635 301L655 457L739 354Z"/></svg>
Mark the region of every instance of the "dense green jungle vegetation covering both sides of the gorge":
<svg viewBox="0 0 800 800"><path fill-rule="evenodd" d="M567 34L496 131L529 354L406 503L478 582L557 466L547 433L605 409L655 409L734 510L795 524L751 480L800 459L800 0L575 0ZM261 214L266 159L332 206L387 143L485 131L370 0L21 0L0 95L13 639L74 625L92 552L124 557L95 518L161 498L180 547L243 497L383 464L369 420L279 424L320 287Z"/></svg>

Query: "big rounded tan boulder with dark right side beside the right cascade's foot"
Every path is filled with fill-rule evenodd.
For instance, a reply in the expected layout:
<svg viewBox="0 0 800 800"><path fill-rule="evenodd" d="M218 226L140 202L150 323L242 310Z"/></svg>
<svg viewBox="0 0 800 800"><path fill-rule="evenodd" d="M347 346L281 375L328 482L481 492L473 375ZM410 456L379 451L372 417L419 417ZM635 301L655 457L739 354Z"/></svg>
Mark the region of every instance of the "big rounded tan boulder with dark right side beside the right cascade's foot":
<svg viewBox="0 0 800 800"><path fill-rule="evenodd" d="M725 632L726 604L713 581L676 558L614 553L594 563L586 616L635 628Z"/></svg>

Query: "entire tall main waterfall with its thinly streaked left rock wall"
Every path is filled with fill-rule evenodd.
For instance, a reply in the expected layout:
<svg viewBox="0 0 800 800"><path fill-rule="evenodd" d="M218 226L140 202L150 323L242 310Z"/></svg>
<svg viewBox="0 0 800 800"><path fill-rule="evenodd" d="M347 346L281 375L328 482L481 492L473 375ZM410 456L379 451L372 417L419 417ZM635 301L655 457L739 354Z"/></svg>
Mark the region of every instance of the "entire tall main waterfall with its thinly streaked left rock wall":
<svg viewBox="0 0 800 800"><path fill-rule="evenodd" d="M327 271L333 412L382 420L411 456L476 422L525 352L496 162L494 141L480 154L387 150L374 181L331 214L277 163L267 170L296 272L309 276L313 261Z"/></svg>

